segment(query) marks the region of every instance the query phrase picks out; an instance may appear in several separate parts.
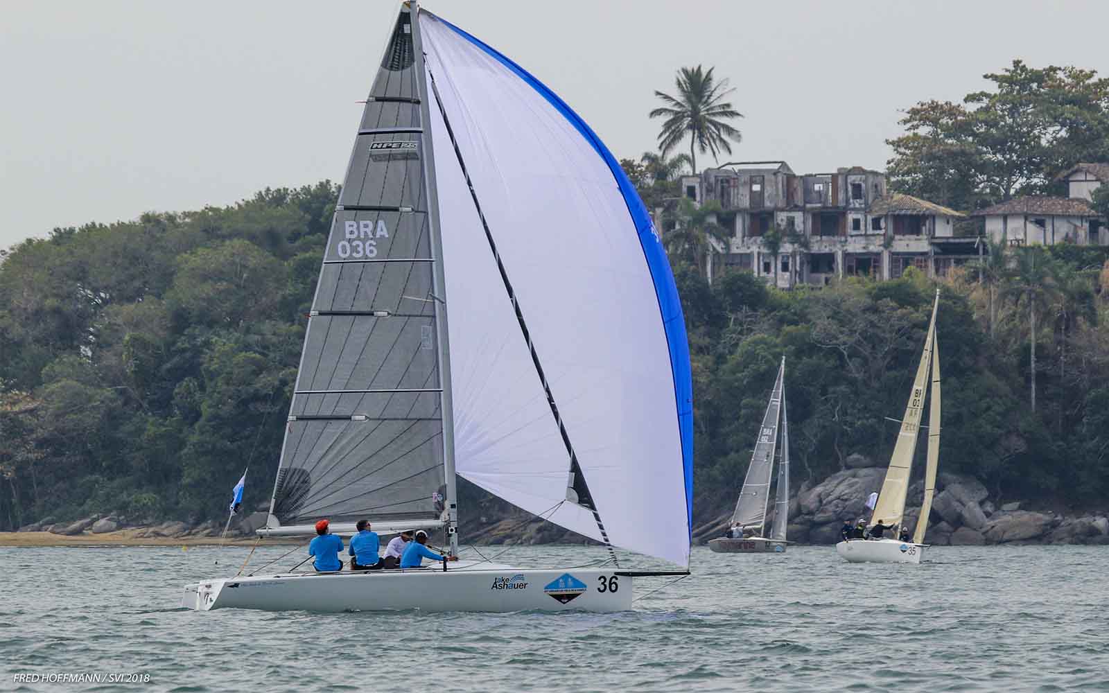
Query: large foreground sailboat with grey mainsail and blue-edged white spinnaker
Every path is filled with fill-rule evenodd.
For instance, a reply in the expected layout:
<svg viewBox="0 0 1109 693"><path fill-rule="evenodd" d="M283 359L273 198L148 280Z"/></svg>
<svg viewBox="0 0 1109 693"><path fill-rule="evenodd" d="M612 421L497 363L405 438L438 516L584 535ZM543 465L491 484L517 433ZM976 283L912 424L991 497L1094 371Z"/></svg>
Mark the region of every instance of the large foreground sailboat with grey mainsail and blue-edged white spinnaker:
<svg viewBox="0 0 1109 693"><path fill-rule="evenodd" d="M450 316L448 323L448 313ZM313 302L264 536L441 530L456 473L610 548L607 564L205 580L183 603L315 611L617 611L689 571L692 384L650 216L570 108L403 6ZM634 571L611 549L680 571Z"/></svg>

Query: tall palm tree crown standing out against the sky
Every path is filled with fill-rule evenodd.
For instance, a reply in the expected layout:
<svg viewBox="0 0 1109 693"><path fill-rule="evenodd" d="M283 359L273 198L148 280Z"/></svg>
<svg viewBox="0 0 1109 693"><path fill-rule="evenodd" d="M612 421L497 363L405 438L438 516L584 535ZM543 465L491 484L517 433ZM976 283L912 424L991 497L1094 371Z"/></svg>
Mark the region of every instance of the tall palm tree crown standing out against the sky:
<svg viewBox="0 0 1109 693"><path fill-rule="evenodd" d="M659 132L659 151L665 156L679 142L690 136L690 165L696 174L696 152L732 153L729 140L739 142L742 134L726 121L743 118L723 99L735 91L728 88L728 80L716 81L712 75L715 68L704 71L701 65L682 68L674 78L678 96L655 91L654 95L665 106L651 111L651 118L665 118Z"/></svg>

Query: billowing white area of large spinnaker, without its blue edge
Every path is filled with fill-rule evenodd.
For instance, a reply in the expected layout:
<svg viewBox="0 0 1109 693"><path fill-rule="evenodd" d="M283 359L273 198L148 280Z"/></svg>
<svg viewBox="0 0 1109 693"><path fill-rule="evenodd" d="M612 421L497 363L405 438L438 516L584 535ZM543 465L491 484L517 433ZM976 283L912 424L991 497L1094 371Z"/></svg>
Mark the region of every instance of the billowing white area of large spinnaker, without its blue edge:
<svg viewBox="0 0 1109 693"><path fill-rule="evenodd" d="M426 12L420 29L428 70L609 539L686 565L667 336L612 172L567 116L502 62ZM438 105L431 112L455 468L509 502L598 538L591 513L561 502L569 457Z"/></svg>

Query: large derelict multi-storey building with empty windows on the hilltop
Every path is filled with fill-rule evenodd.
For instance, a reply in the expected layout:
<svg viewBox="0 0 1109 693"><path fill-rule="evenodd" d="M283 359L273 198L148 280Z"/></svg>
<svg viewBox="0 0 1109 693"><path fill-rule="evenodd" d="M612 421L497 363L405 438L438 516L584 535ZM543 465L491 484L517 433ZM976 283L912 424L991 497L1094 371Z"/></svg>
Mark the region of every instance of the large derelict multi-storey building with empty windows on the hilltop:
<svg viewBox="0 0 1109 693"><path fill-rule="evenodd" d="M977 237L955 236L955 210L887 193L885 175L862 167L797 175L782 161L725 164L684 176L682 191L698 204L715 200L718 223L731 231L708 258L708 278L721 265L766 277L777 286L823 286L863 275L896 278L915 266L942 276L980 257ZM781 230L781 245L765 234Z"/></svg>

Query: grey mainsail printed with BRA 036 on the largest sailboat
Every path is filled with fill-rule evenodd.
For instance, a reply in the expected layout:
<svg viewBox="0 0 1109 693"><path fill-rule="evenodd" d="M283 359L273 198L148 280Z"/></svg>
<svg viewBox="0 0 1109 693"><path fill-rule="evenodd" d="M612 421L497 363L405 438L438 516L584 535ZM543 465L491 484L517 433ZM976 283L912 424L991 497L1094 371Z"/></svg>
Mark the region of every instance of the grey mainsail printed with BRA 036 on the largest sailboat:
<svg viewBox="0 0 1109 693"><path fill-rule="evenodd" d="M444 296L420 58L404 10L366 102L313 299L271 506L282 526L446 516Z"/></svg>

